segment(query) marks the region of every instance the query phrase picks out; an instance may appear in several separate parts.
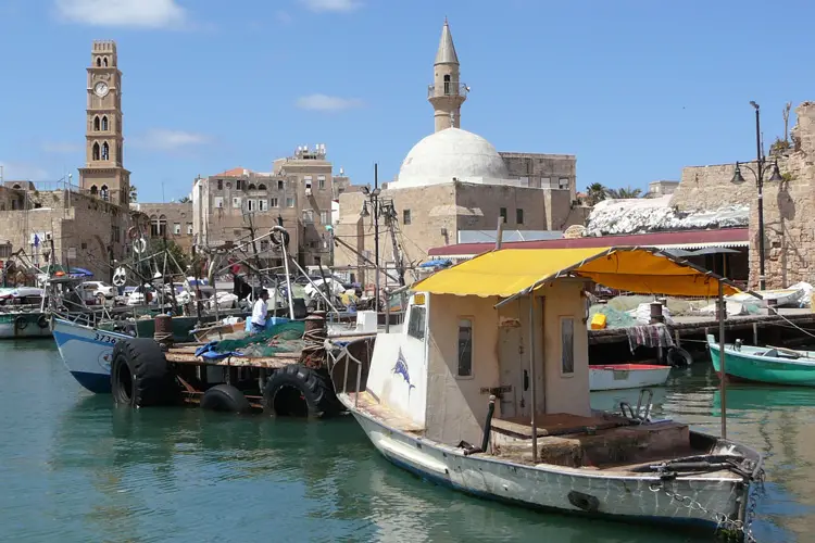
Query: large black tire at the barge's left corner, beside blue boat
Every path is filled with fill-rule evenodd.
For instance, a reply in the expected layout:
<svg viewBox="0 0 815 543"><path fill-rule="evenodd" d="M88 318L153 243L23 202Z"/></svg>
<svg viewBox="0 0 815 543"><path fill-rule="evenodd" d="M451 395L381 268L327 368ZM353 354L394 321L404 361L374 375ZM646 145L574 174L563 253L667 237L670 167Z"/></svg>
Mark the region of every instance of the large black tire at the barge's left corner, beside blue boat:
<svg viewBox="0 0 815 543"><path fill-rule="evenodd" d="M122 340L113 348L111 393L116 403L133 407L171 405L180 395L161 345L147 338Z"/></svg>

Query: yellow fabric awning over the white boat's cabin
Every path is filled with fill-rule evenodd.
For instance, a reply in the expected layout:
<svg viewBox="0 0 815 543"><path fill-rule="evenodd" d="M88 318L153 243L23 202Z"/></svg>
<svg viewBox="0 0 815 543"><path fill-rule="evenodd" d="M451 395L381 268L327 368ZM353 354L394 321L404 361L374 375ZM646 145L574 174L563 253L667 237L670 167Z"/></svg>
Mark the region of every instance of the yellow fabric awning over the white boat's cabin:
<svg viewBox="0 0 815 543"><path fill-rule="evenodd" d="M718 279L652 249L503 249L481 254L415 285L435 294L507 298L564 275L642 294L715 296ZM724 282L725 294L738 289Z"/></svg>

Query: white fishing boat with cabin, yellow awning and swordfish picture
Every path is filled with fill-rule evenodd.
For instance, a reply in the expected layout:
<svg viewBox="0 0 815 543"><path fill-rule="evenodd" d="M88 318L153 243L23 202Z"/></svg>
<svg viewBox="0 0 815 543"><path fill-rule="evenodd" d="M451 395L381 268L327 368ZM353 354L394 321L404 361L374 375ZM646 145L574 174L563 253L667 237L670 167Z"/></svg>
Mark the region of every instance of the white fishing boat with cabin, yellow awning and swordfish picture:
<svg viewBox="0 0 815 543"><path fill-rule="evenodd" d="M726 439L724 425L714 437L632 409L592 412L589 281L649 294L736 292L657 250L485 253L414 283L400 330L327 340L338 397L387 459L465 493L749 530L763 458Z"/></svg>

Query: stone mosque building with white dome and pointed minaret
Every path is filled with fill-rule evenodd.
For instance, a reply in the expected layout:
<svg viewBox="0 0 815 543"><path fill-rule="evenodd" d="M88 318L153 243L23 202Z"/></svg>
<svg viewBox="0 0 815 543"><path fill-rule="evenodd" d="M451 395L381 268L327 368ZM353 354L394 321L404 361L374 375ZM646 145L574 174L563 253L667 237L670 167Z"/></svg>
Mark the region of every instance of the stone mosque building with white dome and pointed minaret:
<svg viewBox="0 0 815 543"><path fill-rule="evenodd" d="M446 21L427 93L435 132L411 149L397 178L378 194L378 204L388 210L387 220L379 220L383 267L393 266L393 247L405 264L416 264L430 248L456 243L462 231L494 230L499 218L513 230L564 230L585 220L586 209L576 199L575 156L499 153L485 138L461 129L468 92ZM365 193L340 194L335 228L335 265L365 283L373 282L365 260L375 260L377 252L373 205Z"/></svg>

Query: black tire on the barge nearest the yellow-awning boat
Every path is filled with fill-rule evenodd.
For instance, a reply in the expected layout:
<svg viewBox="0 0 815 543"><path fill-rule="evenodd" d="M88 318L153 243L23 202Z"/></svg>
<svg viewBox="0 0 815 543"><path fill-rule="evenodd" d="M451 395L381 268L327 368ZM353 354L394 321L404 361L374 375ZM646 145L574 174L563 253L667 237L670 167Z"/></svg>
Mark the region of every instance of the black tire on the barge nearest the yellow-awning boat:
<svg viewBox="0 0 815 543"><path fill-rule="evenodd" d="M263 411L277 416L319 418L337 415L342 406L327 374L292 364L266 381Z"/></svg>

